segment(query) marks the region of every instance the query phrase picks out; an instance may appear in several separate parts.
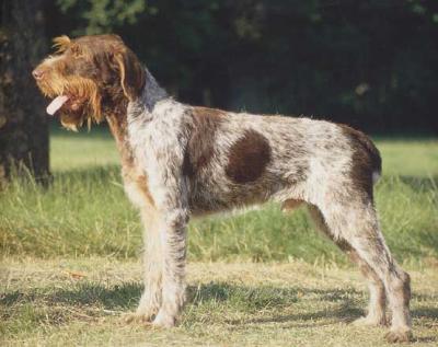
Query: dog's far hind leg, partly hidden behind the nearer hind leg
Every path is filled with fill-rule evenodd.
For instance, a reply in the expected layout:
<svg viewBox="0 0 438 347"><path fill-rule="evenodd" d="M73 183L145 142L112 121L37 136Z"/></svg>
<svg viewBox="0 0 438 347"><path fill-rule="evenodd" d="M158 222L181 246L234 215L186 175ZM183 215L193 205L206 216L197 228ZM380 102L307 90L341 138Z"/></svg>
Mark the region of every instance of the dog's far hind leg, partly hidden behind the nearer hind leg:
<svg viewBox="0 0 438 347"><path fill-rule="evenodd" d="M374 270L358 255L358 253L345 241L337 240L333 236L327 224L325 223L324 217L320 209L313 205L308 205L310 216L312 217L318 229L327 235L335 244L344 251L348 257L355 263L360 273L367 279L368 289L370 293L368 314L354 322L356 325L387 325L387 297L384 293L383 281L374 273Z"/></svg>

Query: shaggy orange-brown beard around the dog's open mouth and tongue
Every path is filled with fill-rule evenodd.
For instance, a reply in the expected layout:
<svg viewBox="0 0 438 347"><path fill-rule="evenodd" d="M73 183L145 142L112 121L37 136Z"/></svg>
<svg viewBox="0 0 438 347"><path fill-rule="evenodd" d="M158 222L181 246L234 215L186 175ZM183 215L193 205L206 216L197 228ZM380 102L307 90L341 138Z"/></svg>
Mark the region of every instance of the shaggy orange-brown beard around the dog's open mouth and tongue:
<svg viewBox="0 0 438 347"><path fill-rule="evenodd" d="M38 86L46 96L53 99L47 113L59 114L65 128L77 131L85 122L90 127L92 122L100 123L103 119L101 96L91 79L56 76L50 83L42 81Z"/></svg>

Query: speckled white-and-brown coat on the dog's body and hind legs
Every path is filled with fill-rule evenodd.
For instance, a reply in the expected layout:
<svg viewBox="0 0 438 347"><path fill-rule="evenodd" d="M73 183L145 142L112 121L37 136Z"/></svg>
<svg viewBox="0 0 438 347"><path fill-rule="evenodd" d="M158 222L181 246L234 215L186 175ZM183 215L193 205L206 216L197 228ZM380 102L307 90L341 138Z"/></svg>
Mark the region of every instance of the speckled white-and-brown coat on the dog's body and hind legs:
<svg viewBox="0 0 438 347"><path fill-rule="evenodd" d="M369 315L357 323L385 324L383 278L389 288L395 287L390 299L402 297L401 304L392 300L393 324L408 331L408 276L392 259L379 230L372 186L380 176L381 159L368 137L347 126L304 117L184 105L169 97L149 72L147 81L149 90L147 82L142 96L128 107L128 138L136 165L148 176L148 187L142 188L149 189L150 203L164 224L172 225L169 233L161 233L169 239L162 239L164 248L159 251L162 255L165 246L172 245L164 251L162 273L162 279L168 273L172 278L162 291L165 296L166 288L172 288L170 302L174 305L169 312L176 312L184 300L188 218L273 199L284 209L306 203L319 227L369 278ZM155 93L161 96L153 97ZM153 103L148 101L151 96ZM136 188L127 192L138 194ZM166 252L172 254L168 263ZM151 298L145 296L150 314ZM159 296L153 300L166 302ZM402 312L397 315L399 305ZM158 320L162 317L159 314Z"/></svg>

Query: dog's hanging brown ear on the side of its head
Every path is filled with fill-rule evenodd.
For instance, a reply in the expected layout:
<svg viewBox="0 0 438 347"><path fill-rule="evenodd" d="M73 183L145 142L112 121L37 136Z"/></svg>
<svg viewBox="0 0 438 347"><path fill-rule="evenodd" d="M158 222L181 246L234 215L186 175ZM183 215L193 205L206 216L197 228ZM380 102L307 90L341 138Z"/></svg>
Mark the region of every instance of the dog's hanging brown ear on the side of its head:
<svg viewBox="0 0 438 347"><path fill-rule="evenodd" d="M146 82L145 69L136 55L127 47L114 53L114 59L118 66L120 84L129 101L141 95Z"/></svg>

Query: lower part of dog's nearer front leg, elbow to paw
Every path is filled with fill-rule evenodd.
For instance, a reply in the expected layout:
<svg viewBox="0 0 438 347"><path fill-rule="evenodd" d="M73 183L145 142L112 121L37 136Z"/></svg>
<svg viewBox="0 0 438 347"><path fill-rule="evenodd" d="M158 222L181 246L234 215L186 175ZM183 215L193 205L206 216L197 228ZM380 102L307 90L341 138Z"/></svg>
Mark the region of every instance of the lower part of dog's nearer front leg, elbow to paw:
<svg viewBox="0 0 438 347"><path fill-rule="evenodd" d="M171 327L185 301L186 225L185 208L161 211L162 303L153 325Z"/></svg>

